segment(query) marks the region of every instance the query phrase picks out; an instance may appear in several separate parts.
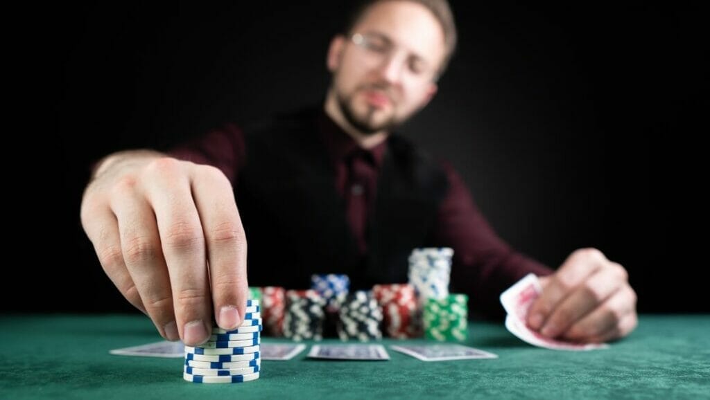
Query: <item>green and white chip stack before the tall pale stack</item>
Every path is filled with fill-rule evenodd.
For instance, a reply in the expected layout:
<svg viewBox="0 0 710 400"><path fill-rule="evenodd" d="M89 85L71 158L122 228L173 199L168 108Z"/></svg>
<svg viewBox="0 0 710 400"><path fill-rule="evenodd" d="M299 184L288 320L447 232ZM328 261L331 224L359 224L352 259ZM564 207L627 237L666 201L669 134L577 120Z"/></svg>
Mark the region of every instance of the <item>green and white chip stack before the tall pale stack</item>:
<svg viewBox="0 0 710 400"><path fill-rule="evenodd" d="M449 294L444 299L427 299L424 306L424 335L434 340L468 338L469 296Z"/></svg>

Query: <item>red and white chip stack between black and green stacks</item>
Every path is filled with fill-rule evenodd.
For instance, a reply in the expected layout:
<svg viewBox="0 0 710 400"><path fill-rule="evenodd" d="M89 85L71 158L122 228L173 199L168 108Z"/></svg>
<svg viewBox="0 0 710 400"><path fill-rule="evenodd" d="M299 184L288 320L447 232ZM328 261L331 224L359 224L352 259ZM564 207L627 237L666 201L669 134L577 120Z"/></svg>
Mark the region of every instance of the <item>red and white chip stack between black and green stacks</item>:
<svg viewBox="0 0 710 400"><path fill-rule="evenodd" d="M420 336L415 326L417 299L410 284L376 284L372 288L383 312L383 330L391 338Z"/></svg>

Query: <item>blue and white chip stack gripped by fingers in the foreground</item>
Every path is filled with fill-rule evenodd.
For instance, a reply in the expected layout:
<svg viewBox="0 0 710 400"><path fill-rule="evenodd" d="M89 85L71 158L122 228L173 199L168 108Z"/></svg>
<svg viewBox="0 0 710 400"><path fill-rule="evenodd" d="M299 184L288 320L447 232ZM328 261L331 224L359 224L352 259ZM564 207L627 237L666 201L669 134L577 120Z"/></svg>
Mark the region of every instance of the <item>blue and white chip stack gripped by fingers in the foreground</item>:
<svg viewBox="0 0 710 400"><path fill-rule="evenodd" d="M212 328L200 346L185 346L182 377L195 383L239 383L259 378L261 313L258 300L247 300L244 321L234 330Z"/></svg>

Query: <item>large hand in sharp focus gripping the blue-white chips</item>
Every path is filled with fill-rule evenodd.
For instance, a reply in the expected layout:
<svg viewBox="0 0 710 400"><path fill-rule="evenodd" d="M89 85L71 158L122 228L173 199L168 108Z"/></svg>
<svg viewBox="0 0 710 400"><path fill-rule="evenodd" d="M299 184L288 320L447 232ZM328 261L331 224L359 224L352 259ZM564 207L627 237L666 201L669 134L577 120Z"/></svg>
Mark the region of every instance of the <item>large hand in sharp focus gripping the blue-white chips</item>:
<svg viewBox="0 0 710 400"><path fill-rule="evenodd" d="M163 338L204 343L213 309L221 328L239 326L246 238L217 168L148 150L116 153L87 185L81 218L104 271Z"/></svg>

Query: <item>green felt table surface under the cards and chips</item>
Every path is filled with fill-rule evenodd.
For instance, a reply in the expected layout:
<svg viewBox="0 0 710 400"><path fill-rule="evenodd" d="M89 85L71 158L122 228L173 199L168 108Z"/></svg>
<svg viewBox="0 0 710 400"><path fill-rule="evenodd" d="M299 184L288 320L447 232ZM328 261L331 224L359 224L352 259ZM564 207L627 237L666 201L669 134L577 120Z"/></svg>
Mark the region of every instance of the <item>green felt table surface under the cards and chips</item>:
<svg viewBox="0 0 710 400"><path fill-rule="evenodd" d="M389 361L322 361L306 342L242 384L185 382L179 358L109 355L160 340L143 316L0 316L0 328L0 399L710 399L708 315L641 316L630 337L590 352L533 348L473 321L464 344L493 360L423 362L383 340Z"/></svg>

